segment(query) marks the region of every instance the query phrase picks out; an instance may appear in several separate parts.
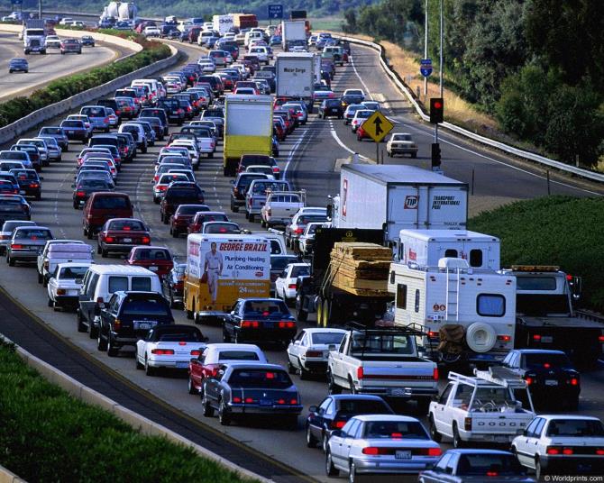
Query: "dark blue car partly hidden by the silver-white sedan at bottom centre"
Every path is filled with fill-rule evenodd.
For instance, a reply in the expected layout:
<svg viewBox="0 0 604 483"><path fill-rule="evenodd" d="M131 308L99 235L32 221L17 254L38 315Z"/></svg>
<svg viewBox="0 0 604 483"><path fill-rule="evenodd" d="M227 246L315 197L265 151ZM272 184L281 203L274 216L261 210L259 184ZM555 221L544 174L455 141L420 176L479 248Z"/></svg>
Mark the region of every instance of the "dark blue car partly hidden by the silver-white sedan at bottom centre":
<svg viewBox="0 0 604 483"><path fill-rule="evenodd" d="M394 415L394 411L380 396L369 394L338 394L325 397L319 406L308 407L307 446L321 444L327 449L327 441L335 429L342 429L352 416Z"/></svg>

